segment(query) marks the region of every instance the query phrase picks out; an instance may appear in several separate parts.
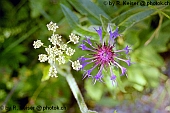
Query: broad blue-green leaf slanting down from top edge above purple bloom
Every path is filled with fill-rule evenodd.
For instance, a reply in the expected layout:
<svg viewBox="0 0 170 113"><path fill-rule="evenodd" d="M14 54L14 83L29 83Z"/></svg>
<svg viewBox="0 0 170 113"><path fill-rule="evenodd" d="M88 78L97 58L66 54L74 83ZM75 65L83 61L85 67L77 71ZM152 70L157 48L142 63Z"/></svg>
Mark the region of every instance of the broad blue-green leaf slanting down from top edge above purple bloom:
<svg viewBox="0 0 170 113"><path fill-rule="evenodd" d="M93 24L100 24L100 14L109 18L109 16L90 0L69 0L69 2L81 14L87 15Z"/></svg>

